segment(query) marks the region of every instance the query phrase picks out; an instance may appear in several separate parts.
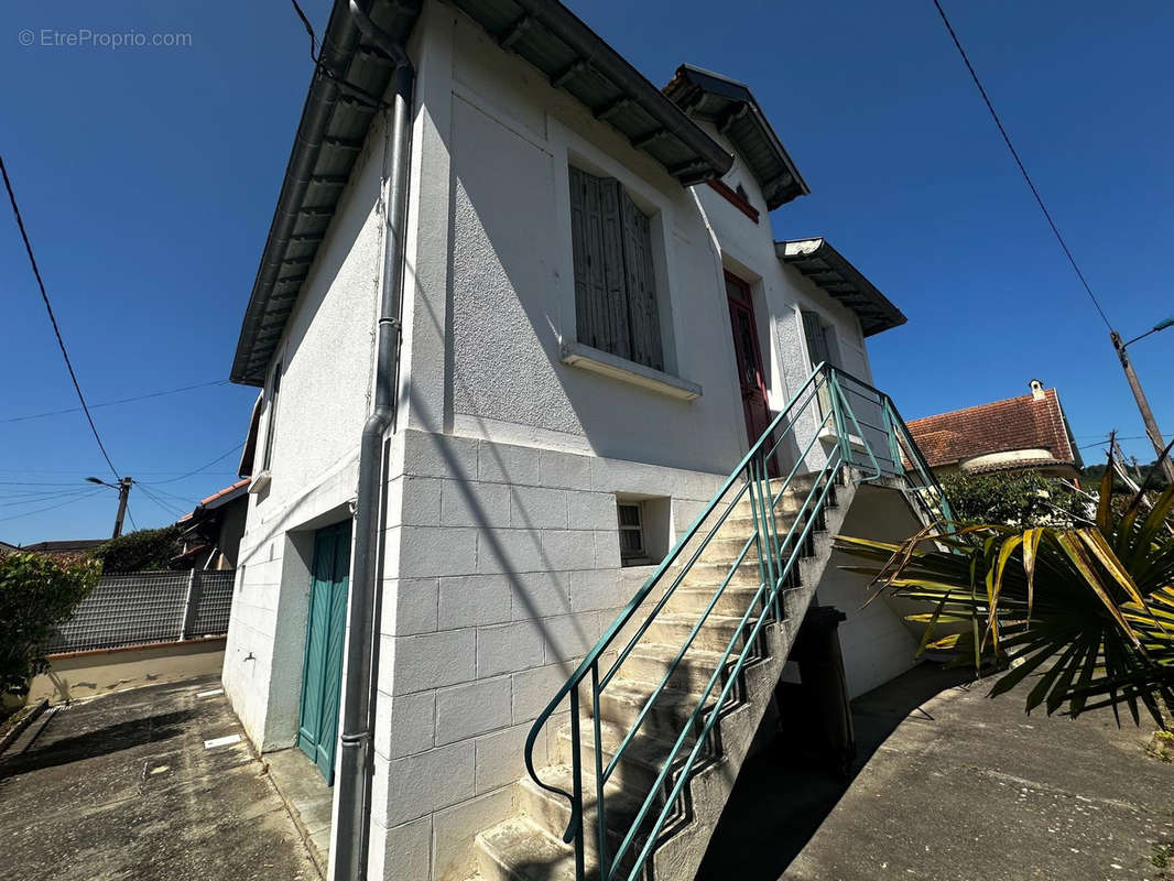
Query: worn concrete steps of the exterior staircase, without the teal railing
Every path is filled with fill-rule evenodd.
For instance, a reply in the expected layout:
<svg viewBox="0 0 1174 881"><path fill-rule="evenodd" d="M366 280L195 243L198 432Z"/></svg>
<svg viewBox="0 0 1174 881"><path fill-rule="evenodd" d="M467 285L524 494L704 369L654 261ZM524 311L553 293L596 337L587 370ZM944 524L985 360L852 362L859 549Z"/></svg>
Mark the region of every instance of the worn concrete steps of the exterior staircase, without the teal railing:
<svg viewBox="0 0 1174 881"><path fill-rule="evenodd" d="M595 717L589 690L581 698L579 728L586 733L581 734L581 789L587 879L600 877L596 768L608 766L625 737L639 725L639 731L603 787L605 841L609 860L614 861L614 854L629 829L636 828L632 845L612 865L608 874L609 877L627 879L636 866L636 858L648 840L653 822L667 806L667 796L679 780L686 758L696 745L697 729L716 709L717 721L706 738L701 758L691 765L677 798L668 805L668 818L656 835L650 858L634 876L686 881L695 875L831 556L831 537L843 523L856 491L850 469L825 471L823 479L832 485L824 503L821 506L805 504L811 495L809 491L819 479L821 475L798 476L785 486L780 480L770 482L771 491L782 493L775 509L777 534L787 536L796 520L799 522L796 536L809 525L808 520L811 526L799 543L802 546L795 564L783 578L781 620L768 620L754 644L744 645L757 616L762 614L761 604L753 607L758 598L762 576L756 552L743 554L742 561L735 565L748 539L755 534L751 502L742 498L709 539L696 563L684 572L660 613L648 619L643 637L601 692L598 707L601 755L598 759L595 738L591 735ZM687 558L689 550L687 545L679 558ZM672 581L680 572L681 569L666 571L664 580ZM715 592L727 577L729 581L724 591L715 599ZM706 616L711 603L713 608ZM747 616L745 624L743 616ZM673 668L674 658L702 618L701 627L682 655L681 664ZM622 645L627 640L619 641ZM734 650L723 664L723 654L731 644ZM747 659L737 681L727 700L717 706L716 698L729 681L743 647L748 648ZM612 652L610 658L614 660L615 655L616 652ZM717 686L706 695L706 688L720 666L723 668ZM662 684L662 691L656 694ZM650 701L652 706L640 724L641 713ZM700 720L693 720L691 729L687 731L699 705L703 707ZM683 747L657 785L679 735L683 735ZM558 724L553 718L549 720L547 738L547 760L551 764L539 768L538 776L548 786L574 792L572 765L575 741L568 714ZM655 796L649 799L654 792ZM648 809L641 815L646 800ZM568 799L539 786L529 776L524 778L519 785L517 814L477 836L480 877L485 881L575 881L574 847L564 843L564 833L571 820Z"/></svg>

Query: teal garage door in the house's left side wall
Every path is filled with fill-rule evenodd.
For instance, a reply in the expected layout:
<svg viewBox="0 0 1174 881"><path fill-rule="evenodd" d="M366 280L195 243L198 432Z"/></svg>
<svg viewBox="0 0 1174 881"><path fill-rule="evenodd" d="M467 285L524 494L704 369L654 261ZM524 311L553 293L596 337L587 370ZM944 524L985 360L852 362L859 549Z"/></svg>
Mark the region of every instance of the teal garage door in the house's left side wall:
<svg viewBox="0 0 1174 881"><path fill-rule="evenodd" d="M335 781L350 566L350 520L318 530L313 537L313 581L305 633L297 745L318 766L328 784Z"/></svg>

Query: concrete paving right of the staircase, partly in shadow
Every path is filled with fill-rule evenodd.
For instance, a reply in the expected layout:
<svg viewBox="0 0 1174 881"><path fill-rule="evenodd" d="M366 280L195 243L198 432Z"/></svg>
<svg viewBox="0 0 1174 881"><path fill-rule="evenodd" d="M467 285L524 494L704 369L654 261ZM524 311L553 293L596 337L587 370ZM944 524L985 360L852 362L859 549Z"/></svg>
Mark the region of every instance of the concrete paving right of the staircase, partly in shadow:
<svg viewBox="0 0 1174 881"><path fill-rule="evenodd" d="M1174 881L1174 765L1153 722L1024 713L1025 686L915 668L853 701L850 784L756 756L700 881ZM862 766L862 767L861 767Z"/></svg>

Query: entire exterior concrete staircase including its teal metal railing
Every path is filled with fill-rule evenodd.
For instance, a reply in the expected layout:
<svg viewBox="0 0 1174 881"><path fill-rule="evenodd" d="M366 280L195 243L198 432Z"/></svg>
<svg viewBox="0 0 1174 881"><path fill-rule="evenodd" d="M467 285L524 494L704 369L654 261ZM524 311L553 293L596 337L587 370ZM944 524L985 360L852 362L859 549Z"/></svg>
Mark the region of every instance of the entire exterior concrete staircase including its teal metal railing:
<svg viewBox="0 0 1174 881"><path fill-rule="evenodd" d="M480 881L696 875L862 482L952 519L892 399L821 364L539 714Z"/></svg>

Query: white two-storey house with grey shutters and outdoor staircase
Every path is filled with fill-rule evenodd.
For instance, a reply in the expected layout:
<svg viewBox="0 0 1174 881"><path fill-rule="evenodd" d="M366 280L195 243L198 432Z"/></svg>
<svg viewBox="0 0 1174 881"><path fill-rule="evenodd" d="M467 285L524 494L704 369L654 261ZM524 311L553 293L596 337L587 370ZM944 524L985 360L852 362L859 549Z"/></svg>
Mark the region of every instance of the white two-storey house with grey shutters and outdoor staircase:
<svg viewBox="0 0 1174 881"><path fill-rule="evenodd" d="M567 877L567 802L524 778L532 726L642 585L664 590L656 564L707 512L707 529L728 517L720 538L676 558L684 586L592 719L613 738L661 673L681 700L724 674L765 570L745 556L751 496L710 500L754 445L747 468L777 475L791 511L763 529L808 539L774 545L785 572L763 563L771 591L792 587L787 619L767 612L696 775L710 788L689 778L691 819L656 849L657 877L691 877L816 587L848 616L837 687L913 663L899 614L862 608L866 579L828 543L904 538L911 500L932 498L903 492L903 436L866 384L865 337L904 316L824 240L776 238L768 213L808 187L744 85L684 66L662 92L549 0L358 6L336 4L323 36L333 73L311 85L232 365L263 394L225 693L257 748L296 745L335 782L331 877L356 859L371 879ZM370 97L398 106L411 82L396 41L414 66L406 139ZM844 376L814 375L825 362ZM535 729L546 780L572 773L568 719L564 702ZM639 749L675 737L646 733ZM580 754L593 775L602 753ZM642 761L608 792L647 784Z"/></svg>

